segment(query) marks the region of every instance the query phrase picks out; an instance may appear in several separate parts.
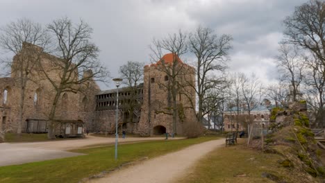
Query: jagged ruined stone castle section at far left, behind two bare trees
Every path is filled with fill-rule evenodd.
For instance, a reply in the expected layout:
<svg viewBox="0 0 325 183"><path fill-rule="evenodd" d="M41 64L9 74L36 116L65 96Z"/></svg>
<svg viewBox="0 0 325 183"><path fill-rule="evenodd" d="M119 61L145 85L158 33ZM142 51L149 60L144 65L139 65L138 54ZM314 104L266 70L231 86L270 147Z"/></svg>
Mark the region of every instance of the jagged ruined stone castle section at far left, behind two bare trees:
<svg viewBox="0 0 325 183"><path fill-rule="evenodd" d="M22 132L47 132L47 120L49 110L53 103L54 89L49 80L40 72L40 67L35 63L22 63L21 57L26 51L42 49L33 44L24 43L21 54L14 56L12 60L10 78L0 78L0 120L1 129L5 132L17 132L19 123L19 112L22 112ZM58 59L53 55L42 52L35 58L42 62L43 68L49 77L59 82L60 71L49 60ZM33 58L34 59L34 58ZM26 68L30 67L30 68ZM22 70L28 72L28 79L21 77ZM87 77L90 71L84 71ZM20 107L22 99L22 80L25 80L24 105ZM90 124L94 121L94 95L99 92L99 87L94 81L89 81L88 88L83 93L67 92L60 96L56 111L56 120L61 123ZM21 111L23 108L23 111ZM78 126L78 125L76 125Z"/></svg>

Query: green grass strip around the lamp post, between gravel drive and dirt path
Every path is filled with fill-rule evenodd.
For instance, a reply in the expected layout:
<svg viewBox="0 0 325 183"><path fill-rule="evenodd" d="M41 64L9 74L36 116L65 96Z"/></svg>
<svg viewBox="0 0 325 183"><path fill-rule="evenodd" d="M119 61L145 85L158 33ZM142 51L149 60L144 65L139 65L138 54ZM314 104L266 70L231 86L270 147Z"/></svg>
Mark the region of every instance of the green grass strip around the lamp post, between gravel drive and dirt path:
<svg viewBox="0 0 325 183"><path fill-rule="evenodd" d="M202 137L197 139L122 144L119 145L117 161L114 159L114 146L73 150L76 153L85 153L87 155L3 166L0 167L0 182L78 182L84 177L112 170L126 162L132 162L142 157L156 157L212 139L216 138Z"/></svg>

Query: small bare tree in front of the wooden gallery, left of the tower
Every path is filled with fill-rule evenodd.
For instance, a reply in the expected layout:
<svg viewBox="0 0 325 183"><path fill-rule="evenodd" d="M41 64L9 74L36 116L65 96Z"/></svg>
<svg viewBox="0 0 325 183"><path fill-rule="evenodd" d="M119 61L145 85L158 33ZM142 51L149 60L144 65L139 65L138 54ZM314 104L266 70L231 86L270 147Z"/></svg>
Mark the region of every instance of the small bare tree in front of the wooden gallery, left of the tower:
<svg viewBox="0 0 325 183"><path fill-rule="evenodd" d="M138 102L138 85L143 82L143 67L142 62L128 61L126 64L119 67L119 74L123 78L123 82L130 89L129 103L127 103L128 113L130 114L131 132L133 132L133 113L135 110L140 110L140 103ZM136 114L139 114L136 113Z"/></svg>

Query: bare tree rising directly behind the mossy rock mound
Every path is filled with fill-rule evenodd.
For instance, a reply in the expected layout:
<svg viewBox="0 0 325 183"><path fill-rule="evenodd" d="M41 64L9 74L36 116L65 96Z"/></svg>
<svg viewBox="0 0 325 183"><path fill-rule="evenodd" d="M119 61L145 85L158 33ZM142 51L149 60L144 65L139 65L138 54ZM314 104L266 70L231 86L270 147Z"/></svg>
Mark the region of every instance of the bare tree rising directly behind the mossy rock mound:
<svg viewBox="0 0 325 183"><path fill-rule="evenodd" d="M306 75L306 60L299 53L297 46L280 44L277 57L278 70L282 73L283 80L290 83L290 95L292 101L298 101L299 87Z"/></svg>

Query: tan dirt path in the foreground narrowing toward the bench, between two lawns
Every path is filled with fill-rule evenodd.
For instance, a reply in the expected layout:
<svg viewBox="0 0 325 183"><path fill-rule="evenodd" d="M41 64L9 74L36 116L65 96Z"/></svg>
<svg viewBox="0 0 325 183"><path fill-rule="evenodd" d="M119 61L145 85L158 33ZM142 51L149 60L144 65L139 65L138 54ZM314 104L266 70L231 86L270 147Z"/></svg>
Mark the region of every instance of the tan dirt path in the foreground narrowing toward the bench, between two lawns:
<svg viewBox="0 0 325 183"><path fill-rule="evenodd" d="M92 183L167 183L190 172L191 166L207 153L224 146L224 139L190 146L175 153L149 159L135 166L122 168L106 177L90 180Z"/></svg>

